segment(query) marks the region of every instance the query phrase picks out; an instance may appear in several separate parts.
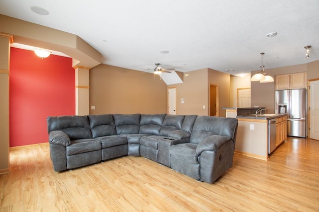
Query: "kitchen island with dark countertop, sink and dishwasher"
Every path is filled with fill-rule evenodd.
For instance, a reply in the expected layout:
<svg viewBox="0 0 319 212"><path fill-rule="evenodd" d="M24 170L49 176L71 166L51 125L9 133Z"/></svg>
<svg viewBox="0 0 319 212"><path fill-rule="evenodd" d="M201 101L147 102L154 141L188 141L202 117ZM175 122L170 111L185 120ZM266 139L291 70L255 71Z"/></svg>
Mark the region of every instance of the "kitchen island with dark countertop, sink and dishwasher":
<svg viewBox="0 0 319 212"><path fill-rule="evenodd" d="M254 115L258 108L255 108L255 113L237 114L238 108L225 109L226 117L236 115L238 119L235 153L268 160L272 151L287 140L287 114ZM253 109L250 108L250 110ZM270 121L273 124L270 124ZM271 129L273 129L272 132ZM269 152L270 140L275 146Z"/></svg>

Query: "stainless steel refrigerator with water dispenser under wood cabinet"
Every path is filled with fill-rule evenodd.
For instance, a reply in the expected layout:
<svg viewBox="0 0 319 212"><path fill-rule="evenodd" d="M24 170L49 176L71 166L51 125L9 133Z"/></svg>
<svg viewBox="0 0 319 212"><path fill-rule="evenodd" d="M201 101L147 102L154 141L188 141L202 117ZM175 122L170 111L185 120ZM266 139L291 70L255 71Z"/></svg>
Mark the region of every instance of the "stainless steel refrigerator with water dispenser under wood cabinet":
<svg viewBox="0 0 319 212"><path fill-rule="evenodd" d="M287 113L287 135L307 136L307 90L276 90L275 112Z"/></svg>

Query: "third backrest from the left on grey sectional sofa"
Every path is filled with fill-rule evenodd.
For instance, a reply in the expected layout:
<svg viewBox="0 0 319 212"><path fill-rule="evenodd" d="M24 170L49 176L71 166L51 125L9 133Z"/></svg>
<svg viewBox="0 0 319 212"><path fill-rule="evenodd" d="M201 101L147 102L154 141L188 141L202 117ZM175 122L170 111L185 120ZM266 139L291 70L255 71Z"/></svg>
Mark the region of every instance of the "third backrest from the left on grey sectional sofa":
<svg viewBox="0 0 319 212"><path fill-rule="evenodd" d="M141 114L113 114L116 134L139 134Z"/></svg>

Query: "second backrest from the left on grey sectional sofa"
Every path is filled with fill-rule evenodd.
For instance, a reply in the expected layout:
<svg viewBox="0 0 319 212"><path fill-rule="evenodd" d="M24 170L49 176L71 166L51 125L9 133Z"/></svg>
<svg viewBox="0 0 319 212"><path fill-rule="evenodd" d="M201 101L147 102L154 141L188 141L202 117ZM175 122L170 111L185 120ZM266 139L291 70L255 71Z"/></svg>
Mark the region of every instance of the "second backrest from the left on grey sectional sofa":
<svg viewBox="0 0 319 212"><path fill-rule="evenodd" d="M112 114L89 115L89 121L93 138L116 135Z"/></svg>

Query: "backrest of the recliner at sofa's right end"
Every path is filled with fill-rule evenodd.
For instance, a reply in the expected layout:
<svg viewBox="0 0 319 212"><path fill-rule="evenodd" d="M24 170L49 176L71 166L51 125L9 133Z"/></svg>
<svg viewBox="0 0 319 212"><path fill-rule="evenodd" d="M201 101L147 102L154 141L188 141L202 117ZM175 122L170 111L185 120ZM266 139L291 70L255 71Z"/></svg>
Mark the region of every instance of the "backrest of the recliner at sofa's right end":
<svg viewBox="0 0 319 212"><path fill-rule="evenodd" d="M197 116L190 136L190 143L199 143L208 136L228 136L235 143L238 120L215 116Z"/></svg>

